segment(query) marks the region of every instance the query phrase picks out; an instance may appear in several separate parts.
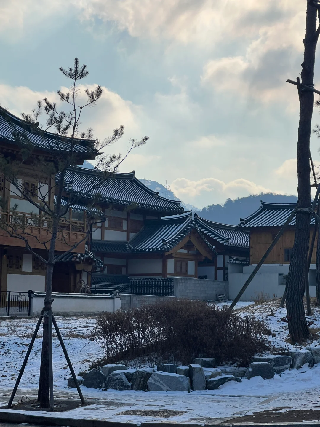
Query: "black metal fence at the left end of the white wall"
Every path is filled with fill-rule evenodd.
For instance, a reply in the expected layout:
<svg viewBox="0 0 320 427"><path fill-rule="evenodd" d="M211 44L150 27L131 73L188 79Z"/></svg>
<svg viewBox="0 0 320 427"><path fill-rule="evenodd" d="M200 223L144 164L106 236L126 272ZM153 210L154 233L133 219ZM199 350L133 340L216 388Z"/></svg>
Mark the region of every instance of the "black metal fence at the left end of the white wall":
<svg viewBox="0 0 320 427"><path fill-rule="evenodd" d="M30 316L29 292L0 292L0 315L24 315Z"/></svg>

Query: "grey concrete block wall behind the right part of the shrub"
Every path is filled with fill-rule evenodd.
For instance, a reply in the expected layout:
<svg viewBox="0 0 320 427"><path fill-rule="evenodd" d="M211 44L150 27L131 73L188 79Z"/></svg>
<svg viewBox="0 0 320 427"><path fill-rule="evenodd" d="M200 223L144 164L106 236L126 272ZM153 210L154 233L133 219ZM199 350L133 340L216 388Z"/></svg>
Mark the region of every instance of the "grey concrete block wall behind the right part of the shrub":
<svg viewBox="0 0 320 427"><path fill-rule="evenodd" d="M216 295L224 293L228 298L228 281L175 277L174 295L201 301L216 301Z"/></svg>

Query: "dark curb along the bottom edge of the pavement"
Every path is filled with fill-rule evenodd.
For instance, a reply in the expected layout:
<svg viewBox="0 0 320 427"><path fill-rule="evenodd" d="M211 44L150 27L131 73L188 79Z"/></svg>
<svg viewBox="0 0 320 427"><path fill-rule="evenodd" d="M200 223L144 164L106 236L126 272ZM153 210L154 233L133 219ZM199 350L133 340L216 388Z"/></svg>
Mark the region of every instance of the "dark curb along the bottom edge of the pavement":
<svg viewBox="0 0 320 427"><path fill-rule="evenodd" d="M170 423L170 422L145 422L145 423L123 423L116 421L102 421L79 418L52 417L46 415L23 414L20 412L0 411L0 422L12 424L41 424L54 427L315 427L320 426L320 421L315 422L291 422L291 423L234 423L228 424L193 424L193 423Z"/></svg>

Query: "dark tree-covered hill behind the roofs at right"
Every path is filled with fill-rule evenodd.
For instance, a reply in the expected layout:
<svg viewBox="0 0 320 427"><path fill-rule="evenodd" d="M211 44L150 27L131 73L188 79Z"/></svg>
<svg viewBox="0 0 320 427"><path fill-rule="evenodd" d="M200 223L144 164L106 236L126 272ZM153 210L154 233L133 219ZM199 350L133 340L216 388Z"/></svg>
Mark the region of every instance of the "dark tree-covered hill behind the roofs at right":
<svg viewBox="0 0 320 427"><path fill-rule="evenodd" d="M283 194L261 193L253 196L241 197L236 200L227 199L224 205L209 205L197 211L202 218L224 224L239 224L239 218L245 218L261 206L260 200L269 203L295 203L297 196Z"/></svg>

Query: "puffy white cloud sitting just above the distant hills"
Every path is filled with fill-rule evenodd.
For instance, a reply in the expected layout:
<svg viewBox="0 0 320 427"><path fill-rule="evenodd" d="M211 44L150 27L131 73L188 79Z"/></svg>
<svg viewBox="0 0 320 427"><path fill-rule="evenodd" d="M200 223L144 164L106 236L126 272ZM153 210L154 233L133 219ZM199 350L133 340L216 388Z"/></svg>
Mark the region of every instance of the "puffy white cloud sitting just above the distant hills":
<svg viewBox="0 0 320 427"><path fill-rule="evenodd" d="M271 190L244 178L224 182L216 178L203 178L192 181L188 178L177 178L170 184L172 191L179 199L197 206L223 203L229 197L248 196L249 194L268 193Z"/></svg>

